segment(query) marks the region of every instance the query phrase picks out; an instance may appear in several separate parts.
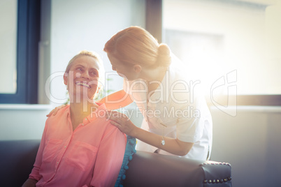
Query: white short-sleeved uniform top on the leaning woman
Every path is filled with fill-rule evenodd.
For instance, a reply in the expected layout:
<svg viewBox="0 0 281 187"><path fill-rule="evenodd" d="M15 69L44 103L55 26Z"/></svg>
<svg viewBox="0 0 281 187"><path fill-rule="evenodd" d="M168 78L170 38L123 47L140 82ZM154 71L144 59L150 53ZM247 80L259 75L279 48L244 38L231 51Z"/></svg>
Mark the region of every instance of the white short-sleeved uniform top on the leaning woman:
<svg viewBox="0 0 281 187"><path fill-rule="evenodd" d="M212 149L212 117L206 100L195 93L199 82L188 80L179 68L182 68L180 63L172 58L160 86L148 97L145 80L124 81L124 91L132 96L143 114L141 128L182 142L193 142L194 146L183 157L206 160ZM154 152L157 147L138 140L136 149ZM157 152L173 155L161 149Z"/></svg>

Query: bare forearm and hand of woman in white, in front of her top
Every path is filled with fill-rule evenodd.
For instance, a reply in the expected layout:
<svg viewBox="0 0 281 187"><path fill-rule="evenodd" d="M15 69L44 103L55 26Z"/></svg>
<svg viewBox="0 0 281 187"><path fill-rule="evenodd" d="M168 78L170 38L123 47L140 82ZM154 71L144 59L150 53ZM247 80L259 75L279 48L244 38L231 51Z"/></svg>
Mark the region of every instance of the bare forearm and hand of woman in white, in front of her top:
<svg viewBox="0 0 281 187"><path fill-rule="evenodd" d="M194 143L192 142L182 142L178 139L171 137L164 137L165 144L161 144L163 137L154 133L150 133L146 130L138 128L135 126L129 118L121 114L120 112L110 111L108 112L108 118L112 121L110 122L114 126L117 126L123 133L136 137L138 140L150 144L154 147L167 151L171 154L178 156L185 156L188 154Z"/></svg>

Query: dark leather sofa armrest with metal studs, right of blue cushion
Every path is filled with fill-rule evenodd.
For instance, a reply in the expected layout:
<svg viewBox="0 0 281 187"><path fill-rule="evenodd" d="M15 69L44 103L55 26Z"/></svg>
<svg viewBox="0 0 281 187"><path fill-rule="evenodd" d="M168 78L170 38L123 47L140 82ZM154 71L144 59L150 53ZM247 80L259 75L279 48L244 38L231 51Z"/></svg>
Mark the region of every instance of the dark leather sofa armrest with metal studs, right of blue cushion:
<svg viewBox="0 0 281 187"><path fill-rule="evenodd" d="M124 186L231 186L231 165L137 151Z"/></svg>

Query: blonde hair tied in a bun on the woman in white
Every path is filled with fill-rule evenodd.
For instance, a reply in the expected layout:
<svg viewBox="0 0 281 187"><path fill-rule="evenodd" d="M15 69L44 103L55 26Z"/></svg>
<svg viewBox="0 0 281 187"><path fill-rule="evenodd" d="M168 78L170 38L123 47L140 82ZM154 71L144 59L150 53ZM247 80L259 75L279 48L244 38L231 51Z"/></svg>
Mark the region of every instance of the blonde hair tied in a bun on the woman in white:
<svg viewBox="0 0 281 187"><path fill-rule="evenodd" d="M141 27L128 27L116 33L106 43L104 49L116 59L128 63L147 67L164 66L171 63L168 45L157 40Z"/></svg>

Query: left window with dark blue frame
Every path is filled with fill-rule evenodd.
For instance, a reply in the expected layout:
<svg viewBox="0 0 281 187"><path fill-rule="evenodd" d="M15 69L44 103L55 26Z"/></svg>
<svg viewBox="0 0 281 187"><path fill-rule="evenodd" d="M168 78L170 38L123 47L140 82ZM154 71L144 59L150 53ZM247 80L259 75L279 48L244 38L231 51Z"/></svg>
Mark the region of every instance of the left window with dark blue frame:
<svg viewBox="0 0 281 187"><path fill-rule="evenodd" d="M38 41L40 39L40 1L0 0L1 8L16 10L15 13L15 38L10 38L12 44L10 57L12 59L1 59L0 66L3 69L6 64L15 64L10 67L12 75L1 77L0 103L37 103L37 82L38 82ZM5 13L5 12L1 12ZM6 17L6 15L1 15ZM3 29L1 29L3 31ZM1 48L3 50L2 46ZM12 78L11 78L12 77ZM3 82L12 81L12 89L5 89Z"/></svg>

